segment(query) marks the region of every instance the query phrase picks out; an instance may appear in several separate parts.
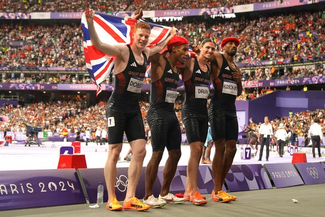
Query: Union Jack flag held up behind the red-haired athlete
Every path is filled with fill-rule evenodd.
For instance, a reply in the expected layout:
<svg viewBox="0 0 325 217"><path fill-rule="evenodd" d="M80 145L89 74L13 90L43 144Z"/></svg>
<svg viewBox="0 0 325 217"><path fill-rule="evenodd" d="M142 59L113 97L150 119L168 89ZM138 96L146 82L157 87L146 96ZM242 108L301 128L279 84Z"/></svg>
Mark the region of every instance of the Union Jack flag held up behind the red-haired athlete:
<svg viewBox="0 0 325 217"><path fill-rule="evenodd" d="M117 17L101 12L95 12L93 18L95 31L102 43L118 45L132 44L132 33L137 22L147 22L151 33L147 46L154 46L164 41L171 27L150 23L146 20ZM83 31L83 48L88 73L94 84L97 85L96 96L102 91L101 83L114 70L114 56L109 56L95 49L90 41L85 13L82 14L81 28Z"/></svg>

